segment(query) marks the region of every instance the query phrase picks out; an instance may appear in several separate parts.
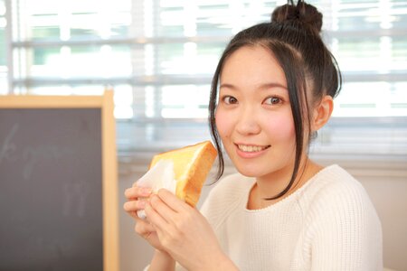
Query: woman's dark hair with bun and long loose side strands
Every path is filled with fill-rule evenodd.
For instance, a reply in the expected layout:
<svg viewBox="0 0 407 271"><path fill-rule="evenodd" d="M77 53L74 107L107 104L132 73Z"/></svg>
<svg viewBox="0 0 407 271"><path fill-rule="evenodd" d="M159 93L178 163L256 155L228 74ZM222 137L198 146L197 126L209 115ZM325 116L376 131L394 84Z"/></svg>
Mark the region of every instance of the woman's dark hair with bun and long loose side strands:
<svg viewBox="0 0 407 271"><path fill-rule="evenodd" d="M304 150L305 129L312 136L309 122L309 106L325 95L335 98L341 89L341 74L337 63L319 33L322 14L313 5L289 1L277 7L271 14L270 23L260 23L237 33L228 43L213 75L209 101L209 124L213 142L218 149L218 175L222 176L224 161L221 138L215 124L218 82L224 62L243 46L260 45L270 51L284 70L289 89L289 101L296 134L296 161L287 187L272 199L289 191L295 181ZM307 91L309 88L310 91ZM307 97L311 94L311 98Z"/></svg>

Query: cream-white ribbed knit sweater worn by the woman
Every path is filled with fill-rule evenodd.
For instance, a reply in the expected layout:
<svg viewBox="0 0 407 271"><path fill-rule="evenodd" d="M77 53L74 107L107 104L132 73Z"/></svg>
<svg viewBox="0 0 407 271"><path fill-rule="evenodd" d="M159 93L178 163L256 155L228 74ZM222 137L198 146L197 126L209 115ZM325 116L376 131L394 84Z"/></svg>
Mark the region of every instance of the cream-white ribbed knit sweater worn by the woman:
<svg viewBox="0 0 407 271"><path fill-rule="evenodd" d="M261 210L246 208L255 180L225 177L202 212L240 270L383 270L382 228L362 185L338 165Z"/></svg>

